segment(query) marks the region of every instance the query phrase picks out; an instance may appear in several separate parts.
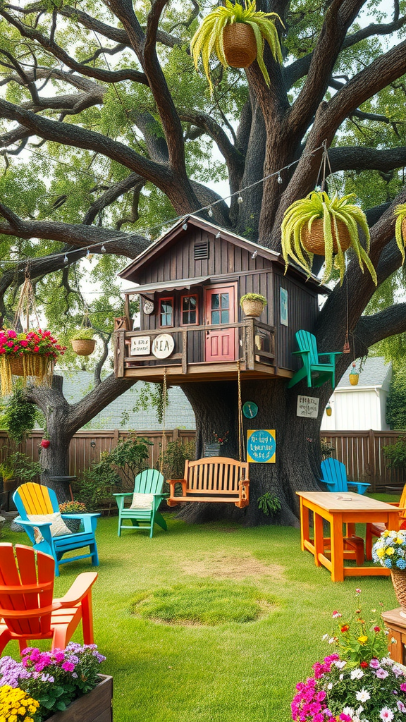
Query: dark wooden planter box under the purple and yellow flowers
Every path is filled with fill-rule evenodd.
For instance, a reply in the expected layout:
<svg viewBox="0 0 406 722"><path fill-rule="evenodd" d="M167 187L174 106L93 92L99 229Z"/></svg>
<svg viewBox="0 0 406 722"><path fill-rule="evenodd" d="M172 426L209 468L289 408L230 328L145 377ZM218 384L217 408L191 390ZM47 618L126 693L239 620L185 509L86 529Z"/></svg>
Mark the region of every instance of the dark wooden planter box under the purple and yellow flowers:
<svg viewBox="0 0 406 722"><path fill-rule="evenodd" d="M48 717L46 722L113 722L113 677L99 674L100 683L87 695L74 700L64 712Z"/></svg>

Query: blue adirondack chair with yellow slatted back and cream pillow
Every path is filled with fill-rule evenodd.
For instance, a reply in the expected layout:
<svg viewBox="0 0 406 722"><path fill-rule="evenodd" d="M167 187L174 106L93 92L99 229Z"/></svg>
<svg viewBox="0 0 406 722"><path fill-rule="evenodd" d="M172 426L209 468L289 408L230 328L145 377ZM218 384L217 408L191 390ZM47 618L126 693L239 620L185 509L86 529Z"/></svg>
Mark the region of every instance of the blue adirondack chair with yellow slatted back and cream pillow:
<svg viewBox="0 0 406 722"><path fill-rule="evenodd" d="M13 501L20 512L20 516L17 516L15 521L24 527L33 542L34 549L38 549L38 552L51 554L55 560L55 575L57 577L59 576L59 566L61 564L75 562L86 557L91 557L92 565L98 567L99 557L95 531L100 514L61 514L62 519L79 518L82 521L83 531L78 531L77 534L52 536L50 531L51 521L46 521L46 519L44 521L30 521L28 515L48 516L59 512L59 503L53 489L27 482L14 492ZM34 529L40 531L40 536L37 537L39 541L35 539ZM87 554L80 554L78 557L62 559L66 552L72 552L72 549L83 549L83 547L89 547L90 551Z"/></svg>

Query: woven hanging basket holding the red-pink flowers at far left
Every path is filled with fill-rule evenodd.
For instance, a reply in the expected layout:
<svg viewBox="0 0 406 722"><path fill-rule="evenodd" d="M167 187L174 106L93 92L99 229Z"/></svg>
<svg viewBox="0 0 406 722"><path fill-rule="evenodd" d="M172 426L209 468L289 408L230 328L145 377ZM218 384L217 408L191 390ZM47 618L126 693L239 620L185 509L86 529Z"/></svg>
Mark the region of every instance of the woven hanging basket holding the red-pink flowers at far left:
<svg viewBox="0 0 406 722"><path fill-rule="evenodd" d="M0 358L1 393L8 396L13 389L13 376L22 376L24 383L32 378L33 383L51 386L53 359L40 354L28 353L23 356L7 354Z"/></svg>

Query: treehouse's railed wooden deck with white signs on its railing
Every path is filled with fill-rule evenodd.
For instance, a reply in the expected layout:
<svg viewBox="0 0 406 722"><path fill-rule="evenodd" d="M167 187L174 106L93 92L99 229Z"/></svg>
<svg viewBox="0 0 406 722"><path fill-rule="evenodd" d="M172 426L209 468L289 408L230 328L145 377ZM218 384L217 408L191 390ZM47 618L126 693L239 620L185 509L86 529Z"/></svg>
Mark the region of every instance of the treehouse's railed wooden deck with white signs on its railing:
<svg viewBox="0 0 406 722"><path fill-rule="evenodd" d="M127 323L124 323L127 325ZM161 381L166 369L172 383L236 378L237 361L243 377L290 378L293 373L276 365L275 328L256 318L239 323L212 324L192 328L171 328L155 331L116 331L115 374L118 378ZM159 351L170 336L173 351L163 359L152 353ZM170 342L169 342L170 343ZM168 352L166 347L161 352ZM141 353L140 353L141 352Z"/></svg>

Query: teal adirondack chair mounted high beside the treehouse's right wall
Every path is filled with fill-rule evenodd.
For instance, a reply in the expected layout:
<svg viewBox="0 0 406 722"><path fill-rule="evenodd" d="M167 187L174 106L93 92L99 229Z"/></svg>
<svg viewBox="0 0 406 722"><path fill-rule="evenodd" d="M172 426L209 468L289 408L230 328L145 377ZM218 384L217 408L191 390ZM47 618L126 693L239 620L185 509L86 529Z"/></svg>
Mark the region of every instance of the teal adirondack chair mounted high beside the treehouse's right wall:
<svg viewBox="0 0 406 722"><path fill-rule="evenodd" d="M308 388L317 388L323 383L330 380L332 388L335 386L335 357L342 354L342 351L326 352L319 354L317 351L316 336L310 334L309 331L296 331L296 341L298 342L299 351L293 351L293 355L301 356L303 366L296 371L295 375L290 379L288 388L295 386L303 378L307 378ZM329 361L322 363L321 356L328 356Z"/></svg>

